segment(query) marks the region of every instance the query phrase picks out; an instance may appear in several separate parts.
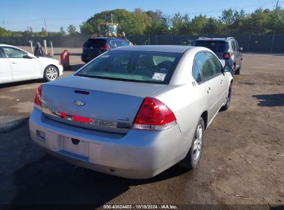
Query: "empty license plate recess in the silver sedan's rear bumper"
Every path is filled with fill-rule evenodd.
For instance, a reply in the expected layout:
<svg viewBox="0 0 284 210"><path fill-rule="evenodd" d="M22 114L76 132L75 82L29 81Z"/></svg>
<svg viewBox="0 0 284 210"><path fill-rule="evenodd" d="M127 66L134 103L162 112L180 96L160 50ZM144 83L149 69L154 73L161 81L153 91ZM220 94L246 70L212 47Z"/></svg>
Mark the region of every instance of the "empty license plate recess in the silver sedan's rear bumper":
<svg viewBox="0 0 284 210"><path fill-rule="evenodd" d="M74 153L76 155L84 156L88 158L88 146L89 143L83 140L63 137L62 140L62 150L68 153Z"/></svg>

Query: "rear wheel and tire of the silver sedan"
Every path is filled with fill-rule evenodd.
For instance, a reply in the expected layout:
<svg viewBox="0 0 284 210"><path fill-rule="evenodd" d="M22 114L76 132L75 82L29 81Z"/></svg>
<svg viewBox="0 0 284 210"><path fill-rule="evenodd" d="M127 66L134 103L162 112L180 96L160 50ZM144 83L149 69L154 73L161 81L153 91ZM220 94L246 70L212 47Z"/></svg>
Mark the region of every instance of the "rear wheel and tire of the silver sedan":
<svg viewBox="0 0 284 210"><path fill-rule="evenodd" d="M198 166L203 148L203 134L205 131L204 120L200 117L196 131L193 135L191 147L187 156L178 163L179 166L185 169L194 169Z"/></svg>

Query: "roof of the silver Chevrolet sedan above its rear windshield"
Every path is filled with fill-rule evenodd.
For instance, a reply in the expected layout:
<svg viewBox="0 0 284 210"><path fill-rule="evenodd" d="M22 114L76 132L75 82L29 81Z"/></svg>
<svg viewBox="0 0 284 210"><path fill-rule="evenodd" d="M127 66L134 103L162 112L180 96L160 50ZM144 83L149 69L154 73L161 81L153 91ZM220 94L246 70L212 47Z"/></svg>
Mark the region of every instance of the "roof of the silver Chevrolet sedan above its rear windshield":
<svg viewBox="0 0 284 210"><path fill-rule="evenodd" d="M142 46L123 46L120 48L114 48L112 50L120 51L153 51L153 52L165 52L165 53L184 53L193 46L178 46L178 45L142 45Z"/></svg>

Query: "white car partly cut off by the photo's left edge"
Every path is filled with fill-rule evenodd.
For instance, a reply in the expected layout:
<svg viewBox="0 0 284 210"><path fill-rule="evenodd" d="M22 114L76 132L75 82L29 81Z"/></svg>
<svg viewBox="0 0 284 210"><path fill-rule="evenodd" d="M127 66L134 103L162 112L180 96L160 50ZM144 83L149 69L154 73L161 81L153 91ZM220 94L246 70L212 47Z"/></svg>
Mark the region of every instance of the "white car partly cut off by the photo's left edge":
<svg viewBox="0 0 284 210"><path fill-rule="evenodd" d="M40 78L53 81L62 72L56 59L35 57L15 46L0 44L0 84Z"/></svg>

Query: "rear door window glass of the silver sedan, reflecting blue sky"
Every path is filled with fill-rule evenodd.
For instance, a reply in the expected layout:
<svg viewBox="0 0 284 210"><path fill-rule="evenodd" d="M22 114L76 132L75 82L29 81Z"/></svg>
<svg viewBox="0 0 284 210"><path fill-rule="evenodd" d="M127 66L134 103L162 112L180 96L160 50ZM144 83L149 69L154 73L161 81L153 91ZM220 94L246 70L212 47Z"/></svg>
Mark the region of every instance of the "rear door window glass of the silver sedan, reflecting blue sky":
<svg viewBox="0 0 284 210"><path fill-rule="evenodd" d="M196 62L198 63L202 76L205 80L214 76L214 70L205 53L198 53L198 55L196 55Z"/></svg>

